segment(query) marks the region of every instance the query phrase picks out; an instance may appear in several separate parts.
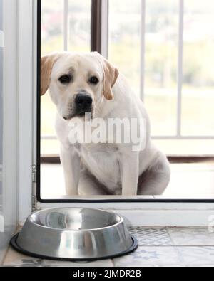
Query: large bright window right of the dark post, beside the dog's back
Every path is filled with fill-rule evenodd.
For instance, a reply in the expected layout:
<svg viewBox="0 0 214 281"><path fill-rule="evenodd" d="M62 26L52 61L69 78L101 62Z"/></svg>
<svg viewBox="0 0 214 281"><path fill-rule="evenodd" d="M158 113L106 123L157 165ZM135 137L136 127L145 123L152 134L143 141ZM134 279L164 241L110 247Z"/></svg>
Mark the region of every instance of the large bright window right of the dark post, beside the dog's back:
<svg viewBox="0 0 214 281"><path fill-rule="evenodd" d="M120 3L109 0L109 58L145 102L153 139L169 155L213 154L214 4Z"/></svg>

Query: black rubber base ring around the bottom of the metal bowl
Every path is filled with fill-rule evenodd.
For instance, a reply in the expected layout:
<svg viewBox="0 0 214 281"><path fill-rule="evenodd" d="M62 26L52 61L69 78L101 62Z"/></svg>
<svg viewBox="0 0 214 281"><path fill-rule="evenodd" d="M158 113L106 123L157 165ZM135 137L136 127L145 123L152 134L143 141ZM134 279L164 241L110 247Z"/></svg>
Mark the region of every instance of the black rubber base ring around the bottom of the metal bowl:
<svg viewBox="0 0 214 281"><path fill-rule="evenodd" d="M131 246L131 248L129 248L125 252L118 253L116 255L108 255L108 256L103 256L103 257L99 257L99 258L87 258L87 259L85 259L85 258L84 259L83 258L55 258L55 257L49 257L47 255L38 255L35 253L30 253L26 250L21 249L19 247L19 245L17 244L18 236L19 236L19 233L16 234L11 239L11 246L14 248L14 250L16 250L17 252L19 252L21 254L29 255L31 257L44 259L44 260L61 260L61 261L70 261L70 262L90 262L90 261L94 261L94 260L106 260L106 259L111 259L111 258L119 258L123 255L128 255L129 253L133 253L138 248L138 240L133 235L131 235L131 239L133 240L133 245Z"/></svg>

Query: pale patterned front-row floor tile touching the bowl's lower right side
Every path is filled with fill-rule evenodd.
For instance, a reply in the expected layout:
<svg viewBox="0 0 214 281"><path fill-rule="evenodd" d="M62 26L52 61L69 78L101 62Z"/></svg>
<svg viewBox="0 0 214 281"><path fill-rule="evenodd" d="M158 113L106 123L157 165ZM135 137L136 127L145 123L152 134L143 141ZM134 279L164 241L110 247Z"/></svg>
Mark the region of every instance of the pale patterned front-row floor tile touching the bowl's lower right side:
<svg viewBox="0 0 214 281"><path fill-rule="evenodd" d="M178 251L173 247L139 247L136 252L113 259L115 266L181 265Z"/></svg>

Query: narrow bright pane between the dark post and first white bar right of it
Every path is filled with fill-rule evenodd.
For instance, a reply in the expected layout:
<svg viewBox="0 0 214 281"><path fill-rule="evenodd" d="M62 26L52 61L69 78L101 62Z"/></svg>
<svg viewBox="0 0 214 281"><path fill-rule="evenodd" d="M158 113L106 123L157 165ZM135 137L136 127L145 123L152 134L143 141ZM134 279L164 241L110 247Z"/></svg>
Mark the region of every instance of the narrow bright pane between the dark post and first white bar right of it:
<svg viewBox="0 0 214 281"><path fill-rule="evenodd" d="M121 5L122 4L122 5ZM141 0L109 0L108 58L140 95Z"/></svg>

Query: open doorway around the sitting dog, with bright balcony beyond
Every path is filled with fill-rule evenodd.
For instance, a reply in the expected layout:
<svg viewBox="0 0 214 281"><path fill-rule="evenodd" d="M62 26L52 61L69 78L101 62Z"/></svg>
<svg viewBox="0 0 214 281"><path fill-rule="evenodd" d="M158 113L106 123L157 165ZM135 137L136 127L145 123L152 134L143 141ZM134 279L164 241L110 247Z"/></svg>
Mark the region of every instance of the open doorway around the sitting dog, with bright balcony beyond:
<svg viewBox="0 0 214 281"><path fill-rule="evenodd" d="M153 142L168 156L170 184L160 195L131 200L212 200L214 197L214 5L190 0L41 1L41 55L98 51L117 66L144 102ZM200 26L200 28L199 28ZM199 32L200 31L200 32ZM203 55L202 55L203 53ZM42 200L123 196L67 196L56 107L41 105ZM124 197L125 198L125 197ZM127 199L127 198L126 198Z"/></svg>

